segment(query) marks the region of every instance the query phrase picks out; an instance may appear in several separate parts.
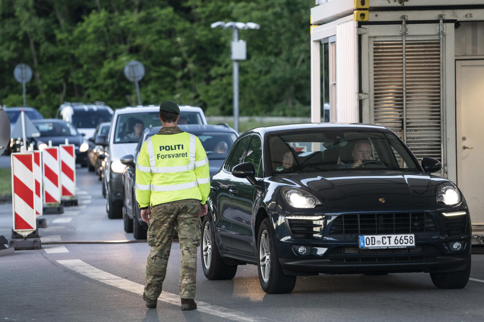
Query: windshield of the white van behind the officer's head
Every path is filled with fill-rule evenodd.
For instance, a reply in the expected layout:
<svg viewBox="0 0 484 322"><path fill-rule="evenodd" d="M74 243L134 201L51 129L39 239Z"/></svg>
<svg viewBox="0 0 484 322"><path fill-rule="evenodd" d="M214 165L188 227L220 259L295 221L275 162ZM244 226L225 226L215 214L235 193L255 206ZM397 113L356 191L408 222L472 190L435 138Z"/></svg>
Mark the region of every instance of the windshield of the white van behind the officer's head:
<svg viewBox="0 0 484 322"><path fill-rule="evenodd" d="M189 121L190 123L188 124L202 124L200 113L197 112L182 111L180 112L180 120L182 119ZM187 123L178 122L178 124ZM136 143L143 134L143 130L150 125L152 127L161 126L161 121L158 119L158 111L119 114L114 131L114 143Z"/></svg>

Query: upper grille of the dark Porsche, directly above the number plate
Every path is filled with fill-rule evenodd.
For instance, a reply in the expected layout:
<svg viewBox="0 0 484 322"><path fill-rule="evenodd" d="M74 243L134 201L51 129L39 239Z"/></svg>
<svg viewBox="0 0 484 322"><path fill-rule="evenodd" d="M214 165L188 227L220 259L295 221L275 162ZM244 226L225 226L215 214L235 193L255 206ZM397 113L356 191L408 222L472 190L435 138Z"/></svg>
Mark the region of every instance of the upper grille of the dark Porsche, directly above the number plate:
<svg viewBox="0 0 484 322"><path fill-rule="evenodd" d="M336 239L356 235L437 231L432 214L426 212L357 213L337 216L330 229Z"/></svg>

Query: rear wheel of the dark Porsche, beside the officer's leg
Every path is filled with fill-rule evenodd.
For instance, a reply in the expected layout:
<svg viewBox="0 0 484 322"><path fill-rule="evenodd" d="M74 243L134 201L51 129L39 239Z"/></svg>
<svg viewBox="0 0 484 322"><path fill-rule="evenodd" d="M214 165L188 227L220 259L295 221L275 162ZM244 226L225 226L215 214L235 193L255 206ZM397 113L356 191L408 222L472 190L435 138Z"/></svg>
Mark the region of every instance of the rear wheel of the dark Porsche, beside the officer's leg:
<svg viewBox="0 0 484 322"><path fill-rule="evenodd" d="M215 240L212 220L206 215L202 223L201 256L205 277L213 280L231 280L237 272L237 265L228 265L223 261Z"/></svg>

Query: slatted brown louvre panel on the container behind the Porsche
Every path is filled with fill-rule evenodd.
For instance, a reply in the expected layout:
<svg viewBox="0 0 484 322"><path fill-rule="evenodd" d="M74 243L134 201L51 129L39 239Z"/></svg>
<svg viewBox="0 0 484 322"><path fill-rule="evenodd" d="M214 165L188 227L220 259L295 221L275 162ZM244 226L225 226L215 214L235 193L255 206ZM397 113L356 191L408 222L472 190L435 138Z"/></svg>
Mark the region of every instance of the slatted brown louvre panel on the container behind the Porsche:
<svg viewBox="0 0 484 322"><path fill-rule="evenodd" d="M442 161L439 40L407 40L405 63L401 41L372 47L374 122L400 135L417 158Z"/></svg>

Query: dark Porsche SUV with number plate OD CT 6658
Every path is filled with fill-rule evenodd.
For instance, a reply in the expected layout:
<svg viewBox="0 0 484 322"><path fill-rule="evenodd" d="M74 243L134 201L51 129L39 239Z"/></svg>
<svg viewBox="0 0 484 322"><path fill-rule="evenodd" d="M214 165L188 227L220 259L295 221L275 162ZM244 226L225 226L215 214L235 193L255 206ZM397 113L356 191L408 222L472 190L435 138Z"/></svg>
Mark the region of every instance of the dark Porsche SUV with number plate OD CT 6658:
<svg viewBox="0 0 484 322"><path fill-rule="evenodd" d="M357 142L371 155L352 168ZM266 293L289 293L296 276L319 273L429 272L438 288L462 288L471 265L469 210L454 183L432 175L440 170L435 158L418 163L379 125L245 132L211 179L205 276L231 279L248 263L258 266Z"/></svg>

